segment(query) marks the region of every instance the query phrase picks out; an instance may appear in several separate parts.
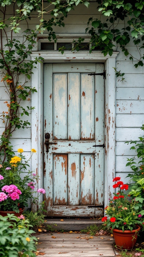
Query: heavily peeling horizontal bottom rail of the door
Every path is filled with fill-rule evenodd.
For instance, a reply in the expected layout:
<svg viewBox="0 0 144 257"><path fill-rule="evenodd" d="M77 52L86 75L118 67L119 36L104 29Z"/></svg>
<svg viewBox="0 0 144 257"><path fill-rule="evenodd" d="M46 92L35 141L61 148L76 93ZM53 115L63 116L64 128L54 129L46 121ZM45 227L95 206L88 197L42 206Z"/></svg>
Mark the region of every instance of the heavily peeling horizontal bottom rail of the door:
<svg viewBox="0 0 144 257"><path fill-rule="evenodd" d="M89 208L88 206L52 206L52 216L100 217L103 212L103 208Z"/></svg>

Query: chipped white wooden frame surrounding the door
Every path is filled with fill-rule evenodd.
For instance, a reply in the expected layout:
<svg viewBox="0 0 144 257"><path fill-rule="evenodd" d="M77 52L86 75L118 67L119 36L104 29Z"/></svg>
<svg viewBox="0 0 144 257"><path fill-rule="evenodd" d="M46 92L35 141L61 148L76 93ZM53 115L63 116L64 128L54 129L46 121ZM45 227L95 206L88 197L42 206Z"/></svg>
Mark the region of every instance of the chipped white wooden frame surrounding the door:
<svg viewBox="0 0 144 257"><path fill-rule="evenodd" d="M113 52L112 56L104 56L100 51L91 53L86 51L65 51L62 55L58 51L36 51L31 54L32 60L43 57L44 62L102 62L105 63L105 157L104 157L104 206L108 205L110 194L114 192L113 178L115 177L115 118L116 118L116 83L115 70L116 57L119 52ZM32 156L32 169L39 175L37 188L43 187L43 63L37 62L32 69L32 87L37 93L32 94L31 146L37 152ZM36 189L37 189L36 188ZM43 201L42 194L39 202Z"/></svg>

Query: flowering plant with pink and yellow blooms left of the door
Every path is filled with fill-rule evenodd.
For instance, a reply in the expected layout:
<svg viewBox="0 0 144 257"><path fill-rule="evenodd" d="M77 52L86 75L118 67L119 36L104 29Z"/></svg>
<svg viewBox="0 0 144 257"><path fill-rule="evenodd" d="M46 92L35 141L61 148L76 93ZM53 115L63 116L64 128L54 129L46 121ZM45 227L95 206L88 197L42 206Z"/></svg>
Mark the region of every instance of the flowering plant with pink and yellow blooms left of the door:
<svg viewBox="0 0 144 257"><path fill-rule="evenodd" d="M0 210L19 213L20 209L28 206L29 198L32 199L32 203L35 203L38 200L38 194L45 194L45 190L39 188L36 192L33 191L35 197L33 196L32 190L35 188L38 176L33 171L26 170L29 167L28 161L36 150L32 149L31 157L27 161L22 155L23 149L20 148L17 151L18 156L12 157L3 165L0 164Z"/></svg>

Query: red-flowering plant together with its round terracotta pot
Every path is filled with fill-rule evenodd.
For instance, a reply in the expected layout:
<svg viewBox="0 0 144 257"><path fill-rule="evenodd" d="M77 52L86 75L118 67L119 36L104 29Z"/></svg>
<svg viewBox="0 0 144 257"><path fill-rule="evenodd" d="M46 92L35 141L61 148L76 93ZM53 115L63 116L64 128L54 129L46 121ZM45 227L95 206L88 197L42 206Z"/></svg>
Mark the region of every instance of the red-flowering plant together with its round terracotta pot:
<svg viewBox="0 0 144 257"><path fill-rule="evenodd" d="M118 249L131 250L136 244L138 231L142 224L141 215L138 213L137 202L129 199L130 195L126 195L128 185L120 181L120 177L113 179L116 182L113 187L118 189L113 199L109 199L109 205L105 208L106 217L102 218L104 226L111 228L116 247Z"/></svg>

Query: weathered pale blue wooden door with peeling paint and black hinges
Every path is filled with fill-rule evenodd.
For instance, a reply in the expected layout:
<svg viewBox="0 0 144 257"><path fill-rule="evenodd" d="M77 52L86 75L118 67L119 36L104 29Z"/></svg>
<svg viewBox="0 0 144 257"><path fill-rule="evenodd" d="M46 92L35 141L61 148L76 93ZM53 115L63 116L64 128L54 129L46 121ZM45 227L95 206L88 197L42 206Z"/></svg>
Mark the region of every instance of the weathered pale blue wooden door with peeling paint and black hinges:
<svg viewBox="0 0 144 257"><path fill-rule="evenodd" d="M44 64L44 188L48 216L100 216L104 201L104 79L100 63ZM90 207L89 207L90 206Z"/></svg>

